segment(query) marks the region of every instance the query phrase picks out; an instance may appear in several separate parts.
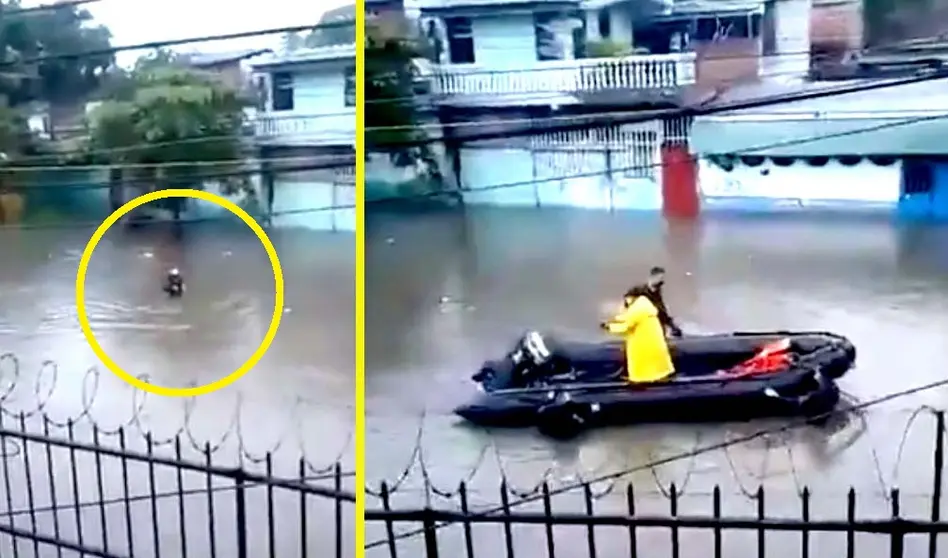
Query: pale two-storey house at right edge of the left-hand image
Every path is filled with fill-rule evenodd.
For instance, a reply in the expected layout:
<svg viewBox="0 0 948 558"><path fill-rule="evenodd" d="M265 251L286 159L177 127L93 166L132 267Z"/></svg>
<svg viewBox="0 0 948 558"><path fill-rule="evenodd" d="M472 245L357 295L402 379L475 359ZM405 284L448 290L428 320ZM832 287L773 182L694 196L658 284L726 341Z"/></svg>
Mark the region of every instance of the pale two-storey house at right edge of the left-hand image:
<svg viewBox="0 0 948 558"><path fill-rule="evenodd" d="M262 197L273 226L355 230L355 45L253 66Z"/></svg>

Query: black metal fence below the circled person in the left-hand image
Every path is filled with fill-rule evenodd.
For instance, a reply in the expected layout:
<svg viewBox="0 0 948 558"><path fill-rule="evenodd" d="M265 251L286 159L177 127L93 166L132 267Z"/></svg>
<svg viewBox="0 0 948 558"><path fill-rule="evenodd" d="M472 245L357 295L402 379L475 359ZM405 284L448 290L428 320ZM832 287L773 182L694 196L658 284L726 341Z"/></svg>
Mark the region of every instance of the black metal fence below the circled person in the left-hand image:
<svg viewBox="0 0 948 558"><path fill-rule="evenodd" d="M351 474L339 465L317 474L267 453L255 464L260 472L251 472L247 464L215 464L219 451L209 444L195 451L180 437L164 455L149 437L122 429L107 435L84 426L77 434L70 422L53 436L48 422L30 433L25 417L2 419L5 558L353 555L355 498L345 486ZM276 473L291 468L295 475Z"/></svg>

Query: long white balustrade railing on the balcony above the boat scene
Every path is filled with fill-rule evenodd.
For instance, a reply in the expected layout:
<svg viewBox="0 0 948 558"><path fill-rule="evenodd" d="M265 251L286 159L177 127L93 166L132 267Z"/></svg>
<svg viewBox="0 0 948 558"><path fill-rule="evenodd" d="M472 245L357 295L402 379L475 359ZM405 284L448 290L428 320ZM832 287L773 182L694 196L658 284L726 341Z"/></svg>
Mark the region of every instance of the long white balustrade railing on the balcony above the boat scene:
<svg viewBox="0 0 948 558"><path fill-rule="evenodd" d="M551 60L516 69L478 64L442 64L433 69L433 93L442 96L670 89L695 82L695 55L680 53Z"/></svg>

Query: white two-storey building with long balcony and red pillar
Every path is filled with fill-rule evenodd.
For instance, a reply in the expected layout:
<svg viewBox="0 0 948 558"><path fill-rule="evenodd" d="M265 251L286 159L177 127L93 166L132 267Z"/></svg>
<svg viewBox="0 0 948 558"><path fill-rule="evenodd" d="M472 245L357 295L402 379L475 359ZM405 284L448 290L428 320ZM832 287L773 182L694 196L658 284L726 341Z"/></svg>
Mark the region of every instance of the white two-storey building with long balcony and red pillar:
<svg viewBox="0 0 948 558"><path fill-rule="evenodd" d="M692 215L690 122L616 125L611 116L707 102L743 83L801 81L809 70L809 0L420 8L446 168L469 203ZM557 129L582 119L603 124Z"/></svg>

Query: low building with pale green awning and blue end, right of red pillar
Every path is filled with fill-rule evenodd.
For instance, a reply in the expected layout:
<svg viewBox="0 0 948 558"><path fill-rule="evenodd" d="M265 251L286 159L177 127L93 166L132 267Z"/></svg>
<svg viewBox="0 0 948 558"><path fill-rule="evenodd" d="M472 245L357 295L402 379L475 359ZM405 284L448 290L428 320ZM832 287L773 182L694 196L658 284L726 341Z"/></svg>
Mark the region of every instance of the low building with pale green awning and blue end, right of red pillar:
<svg viewBox="0 0 948 558"><path fill-rule="evenodd" d="M943 81L697 118L702 210L948 220Z"/></svg>

